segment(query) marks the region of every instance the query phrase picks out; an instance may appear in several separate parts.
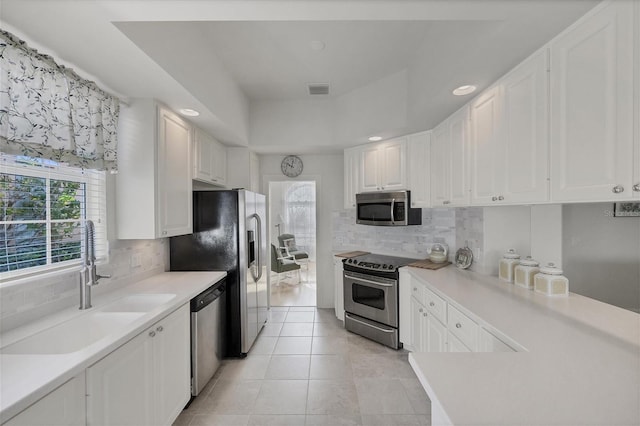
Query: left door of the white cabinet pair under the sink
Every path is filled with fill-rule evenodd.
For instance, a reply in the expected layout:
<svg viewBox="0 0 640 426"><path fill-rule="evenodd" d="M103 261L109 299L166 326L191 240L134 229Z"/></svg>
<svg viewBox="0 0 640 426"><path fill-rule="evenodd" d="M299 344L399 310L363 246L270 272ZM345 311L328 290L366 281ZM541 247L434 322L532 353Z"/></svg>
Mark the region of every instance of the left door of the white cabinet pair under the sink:
<svg viewBox="0 0 640 426"><path fill-rule="evenodd" d="M140 334L87 370L87 424L154 423L153 340Z"/></svg>

